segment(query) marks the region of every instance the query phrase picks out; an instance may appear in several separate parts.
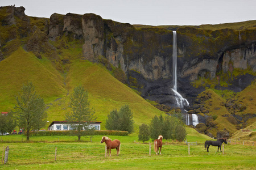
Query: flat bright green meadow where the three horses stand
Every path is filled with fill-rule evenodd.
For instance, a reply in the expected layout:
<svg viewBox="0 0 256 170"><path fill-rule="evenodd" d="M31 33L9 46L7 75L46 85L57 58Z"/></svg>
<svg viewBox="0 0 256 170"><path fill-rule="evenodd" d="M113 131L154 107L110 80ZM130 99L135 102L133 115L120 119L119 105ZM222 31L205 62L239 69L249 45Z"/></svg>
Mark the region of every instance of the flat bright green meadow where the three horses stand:
<svg viewBox="0 0 256 170"><path fill-rule="evenodd" d="M198 145L188 146L184 142L164 140L162 155L156 155L151 143L138 142L138 135L109 136L121 141L121 152L117 156L105 158L105 143L100 143L101 136L77 137L51 136L31 137L24 141L24 135L1 136L0 148L9 146L9 161L0 169L255 169L255 146L224 146L224 155L217 152L217 147L204 149L203 136L188 136L189 142ZM134 142L135 141L135 142ZM57 147L56 161L55 148ZM1 149L2 150L2 149ZM2 159L2 154L0 154Z"/></svg>

